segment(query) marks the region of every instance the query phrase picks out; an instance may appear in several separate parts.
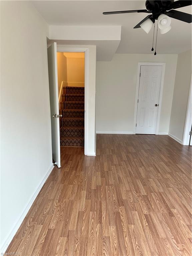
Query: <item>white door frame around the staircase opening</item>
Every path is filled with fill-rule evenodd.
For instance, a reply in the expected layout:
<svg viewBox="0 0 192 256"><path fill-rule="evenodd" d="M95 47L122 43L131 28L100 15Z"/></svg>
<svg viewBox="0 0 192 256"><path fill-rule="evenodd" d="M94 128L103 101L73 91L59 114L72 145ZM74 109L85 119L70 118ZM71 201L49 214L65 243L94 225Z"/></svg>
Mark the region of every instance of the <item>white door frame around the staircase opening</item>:
<svg viewBox="0 0 192 256"><path fill-rule="evenodd" d="M84 112L84 154L87 155L87 136L88 136L88 105L87 105L87 91L88 91L88 84L89 84L89 48L87 47L73 47L73 46L62 46L57 45L57 52L84 52L85 53L85 99L84 99L84 105L85 105L85 112Z"/></svg>

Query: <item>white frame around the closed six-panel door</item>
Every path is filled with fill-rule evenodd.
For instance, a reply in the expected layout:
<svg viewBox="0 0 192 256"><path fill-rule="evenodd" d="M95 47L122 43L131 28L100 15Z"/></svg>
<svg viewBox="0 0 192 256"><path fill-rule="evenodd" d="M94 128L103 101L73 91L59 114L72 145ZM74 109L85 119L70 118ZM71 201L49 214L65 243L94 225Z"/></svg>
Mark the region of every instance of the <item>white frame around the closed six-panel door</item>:
<svg viewBox="0 0 192 256"><path fill-rule="evenodd" d="M162 105L161 103L162 103L162 96L163 96L163 86L164 86L166 62L138 62L133 134L135 134L135 132L136 132L137 106L138 106L138 97L139 97L139 83L140 83L141 66L162 66L160 92L159 92L159 107L158 107L158 111L157 111L157 124L156 124L156 130L155 130L155 135L158 135L159 134L159 122L160 122L160 114L161 114L161 105Z"/></svg>

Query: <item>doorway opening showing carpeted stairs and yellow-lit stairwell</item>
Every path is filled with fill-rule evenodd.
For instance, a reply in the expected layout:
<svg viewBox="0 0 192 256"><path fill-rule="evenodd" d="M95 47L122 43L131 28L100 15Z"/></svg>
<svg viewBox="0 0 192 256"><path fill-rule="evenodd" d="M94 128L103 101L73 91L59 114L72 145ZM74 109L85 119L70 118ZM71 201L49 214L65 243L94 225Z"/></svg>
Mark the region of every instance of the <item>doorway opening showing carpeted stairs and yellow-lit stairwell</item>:
<svg viewBox="0 0 192 256"><path fill-rule="evenodd" d="M57 52L60 146L84 147L85 53Z"/></svg>

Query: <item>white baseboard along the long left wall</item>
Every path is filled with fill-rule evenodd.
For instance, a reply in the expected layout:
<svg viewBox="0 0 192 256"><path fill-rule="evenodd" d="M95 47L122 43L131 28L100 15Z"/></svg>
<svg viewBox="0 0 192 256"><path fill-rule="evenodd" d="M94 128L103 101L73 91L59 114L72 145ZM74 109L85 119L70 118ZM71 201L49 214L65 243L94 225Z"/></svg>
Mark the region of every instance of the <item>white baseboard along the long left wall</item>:
<svg viewBox="0 0 192 256"><path fill-rule="evenodd" d="M11 243L14 235L16 234L17 230L19 229L19 227L21 226L21 223L23 222L25 216L27 215L29 209L31 208L33 202L35 201L35 198L37 197L37 195L39 194L41 188L43 187L46 179L48 178L49 174L51 173L51 171L53 170L54 165L53 163L50 165L50 167L48 168L45 176L43 177L42 181L40 182L40 184L36 187L33 195L30 197L29 201L27 202L27 204L25 205L23 212L21 213L21 215L18 217L17 221L15 222L15 225L13 226L13 229L11 230L11 232L5 237L5 239L3 240L1 246L0 246L0 252L4 253L7 249L7 247L9 246L9 244Z"/></svg>

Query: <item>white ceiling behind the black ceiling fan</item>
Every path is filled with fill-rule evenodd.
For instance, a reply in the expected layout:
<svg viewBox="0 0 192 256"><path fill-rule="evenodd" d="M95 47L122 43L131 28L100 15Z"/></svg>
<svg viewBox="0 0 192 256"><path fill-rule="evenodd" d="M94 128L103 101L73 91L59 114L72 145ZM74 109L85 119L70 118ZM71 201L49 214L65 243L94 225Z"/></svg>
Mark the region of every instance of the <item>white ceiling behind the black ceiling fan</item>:
<svg viewBox="0 0 192 256"><path fill-rule="evenodd" d="M145 1L32 1L49 25L121 25L116 53L151 53L153 29L133 29L146 13L103 15L104 11L145 9ZM177 9L191 13L191 6ZM191 23L172 19L171 30L158 34L157 53L175 54L191 48Z"/></svg>

